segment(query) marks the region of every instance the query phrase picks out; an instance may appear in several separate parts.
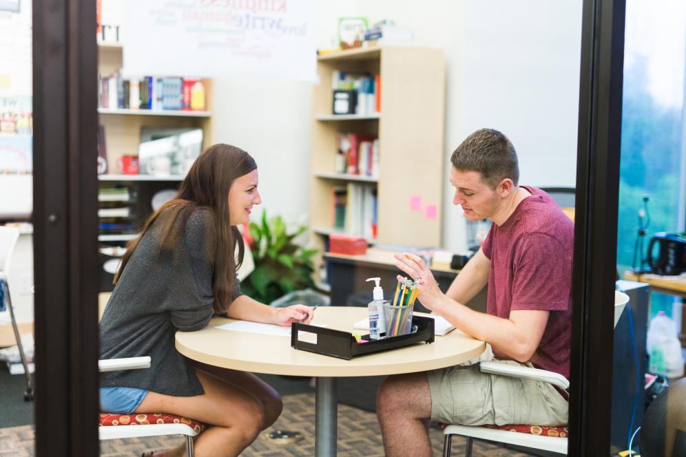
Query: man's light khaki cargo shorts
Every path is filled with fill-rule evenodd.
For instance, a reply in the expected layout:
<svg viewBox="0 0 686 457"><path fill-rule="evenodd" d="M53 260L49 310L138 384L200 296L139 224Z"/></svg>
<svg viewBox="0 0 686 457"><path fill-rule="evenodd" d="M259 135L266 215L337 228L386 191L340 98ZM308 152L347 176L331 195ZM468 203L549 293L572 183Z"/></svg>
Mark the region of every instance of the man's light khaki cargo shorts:
<svg viewBox="0 0 686 457"><path fill-rule="evenodd" d="M531 366L517 361L500 361ZM569 403L550 383L482 373L479 364L426 373L431 420L484 425L567 425Z"/></svg>

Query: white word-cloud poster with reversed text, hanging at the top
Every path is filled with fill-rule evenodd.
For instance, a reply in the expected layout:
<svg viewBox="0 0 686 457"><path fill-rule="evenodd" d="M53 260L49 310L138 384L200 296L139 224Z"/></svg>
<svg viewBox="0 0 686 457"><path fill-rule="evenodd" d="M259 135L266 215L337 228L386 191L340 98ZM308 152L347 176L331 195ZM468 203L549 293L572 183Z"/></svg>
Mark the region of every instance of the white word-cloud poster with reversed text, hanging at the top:
<svg viewBox="0 0 686 457"><path fill-rule="evenodd" d="M315 81L313 0L127 0L123 74Z"/></svg>

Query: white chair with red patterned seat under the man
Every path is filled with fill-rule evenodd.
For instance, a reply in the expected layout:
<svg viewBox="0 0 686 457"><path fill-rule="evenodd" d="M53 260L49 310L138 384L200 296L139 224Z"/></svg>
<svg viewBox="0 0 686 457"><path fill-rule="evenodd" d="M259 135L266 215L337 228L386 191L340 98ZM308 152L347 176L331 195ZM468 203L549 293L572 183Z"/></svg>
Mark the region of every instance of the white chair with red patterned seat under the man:
<svg viewBox="0 0 686 457"><path fill-rule="evenodd" d="M629 296L615 291L614 293L614 326L619 321ZM514 378L531 379L551 383L563 390L567 390L570 382L561 374L538 368L529 368L517 365L508 365L498 361L485 361L480 364L481 372L511 376ZM461 435L467 438L465 457L472 455L473 438L496 441L509 445L541 449L543 451L557 452L567 455L567 439L569 430L567 427L543 427L539 425L446 425L443 429L445 436L443 455L450 457L450 444L453 435Z"/></svg>

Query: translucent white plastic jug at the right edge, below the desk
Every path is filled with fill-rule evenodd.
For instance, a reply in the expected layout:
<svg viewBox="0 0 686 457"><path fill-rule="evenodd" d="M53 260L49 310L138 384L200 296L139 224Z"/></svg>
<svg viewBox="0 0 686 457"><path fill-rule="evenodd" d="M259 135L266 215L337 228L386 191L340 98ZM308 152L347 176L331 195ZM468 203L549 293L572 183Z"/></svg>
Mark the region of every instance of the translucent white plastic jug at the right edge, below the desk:
<svg viewBox="0 0 686 457"><path fill-rule="evenodd" d="M676 323L664 311L650 319L646 349L649 359L648 371L667 378L683 376L684 361L681 345L676 337Z"/></svg>

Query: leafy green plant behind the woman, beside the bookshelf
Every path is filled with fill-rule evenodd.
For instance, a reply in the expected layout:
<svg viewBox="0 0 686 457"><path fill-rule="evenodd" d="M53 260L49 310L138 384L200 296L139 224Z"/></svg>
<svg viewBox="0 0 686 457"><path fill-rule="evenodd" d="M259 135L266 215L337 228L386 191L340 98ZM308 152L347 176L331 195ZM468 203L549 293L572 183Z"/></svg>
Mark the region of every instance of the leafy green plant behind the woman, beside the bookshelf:
<svg viewBox="0 0 686 457"><path fill-rule="evenodd" d="M245 295L270 304L294 290L314 287L311 257L317 250L293 242L304 231L306 226L298 226L289 233L282 217L267 218L267 211L262 212L259 224L249 224L248 243L255 269L240 284Z"/></svg>

